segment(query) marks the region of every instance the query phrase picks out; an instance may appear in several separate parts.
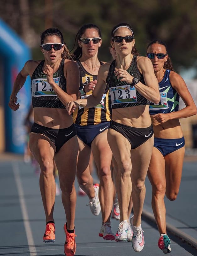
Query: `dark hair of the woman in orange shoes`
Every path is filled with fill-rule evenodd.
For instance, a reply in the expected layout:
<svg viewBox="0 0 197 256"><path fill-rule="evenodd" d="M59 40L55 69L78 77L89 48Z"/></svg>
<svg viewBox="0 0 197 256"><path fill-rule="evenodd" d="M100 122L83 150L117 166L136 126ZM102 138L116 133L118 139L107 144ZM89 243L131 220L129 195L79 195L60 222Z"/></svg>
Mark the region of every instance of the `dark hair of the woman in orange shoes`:
<svg viewBox="0 0 197 256"><path fill-rule="evenodd" d="M71 56L71 54L69 53L69 50L68 50L68 46L64 42L63 34L58 28L48 28L44 32L42 32L41 33L41 44L44 43L44 39L48 36L57 36L58 38L60 38L61 43L64 44L64 50L63 50L63 53L62 53L61 57L63 59L72 59L72 56Z"/></svg>

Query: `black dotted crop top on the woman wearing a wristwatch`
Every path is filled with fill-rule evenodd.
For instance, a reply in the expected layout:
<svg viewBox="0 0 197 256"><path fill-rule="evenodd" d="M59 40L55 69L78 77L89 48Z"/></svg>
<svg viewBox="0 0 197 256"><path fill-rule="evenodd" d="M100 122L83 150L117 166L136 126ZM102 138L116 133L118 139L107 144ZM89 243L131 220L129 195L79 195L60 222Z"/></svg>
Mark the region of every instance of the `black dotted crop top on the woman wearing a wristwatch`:
<svg viewBox="0 0 197 256"><path fill-rule="evenodd" d="M139 78L142 84L145 84L143 75L139 72L137 68L137 56L133 56L133 60L131 62L131 66L127 70L127 72L133 77ZM150 101L148 101L144 96L142 96L134 86L131 86L127 82L121 82L120 79L117 79L115 76L116 60L112 61L109 73L106 79L106 82L109 86L111 104L113 108L127 108L134 107L139 105L149 105Z"/></svg>

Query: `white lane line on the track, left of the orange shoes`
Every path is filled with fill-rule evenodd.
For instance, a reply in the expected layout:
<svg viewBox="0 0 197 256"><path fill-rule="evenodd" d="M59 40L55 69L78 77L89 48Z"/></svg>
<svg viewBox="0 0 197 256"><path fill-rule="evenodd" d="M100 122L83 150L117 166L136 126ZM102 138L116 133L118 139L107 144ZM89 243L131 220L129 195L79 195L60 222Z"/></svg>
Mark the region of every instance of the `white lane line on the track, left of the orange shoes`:
<svg viewBox="0 0 197 256"><path fill-rule="evenodd" d="M20 179L20 175L19 175L19 166L16 162L15 163L13 162L12 168L13 168L13 172L14 172L16 186L18 189L20 207L21 207L21 211L22 211L22 215L23 215L23 222L24 222L24 226L25 226L25 232L26 232L26 236L27 236L27 242L28 242L28 246L29 246L30 256L36 256L37 255L36 247L34 244L34 239L33 239L31 228L30 228L29 216L28 216L26 205L25 205L25 196L24 196L23 187L22 187L22 183L21 183L21 179Z"/></svg>

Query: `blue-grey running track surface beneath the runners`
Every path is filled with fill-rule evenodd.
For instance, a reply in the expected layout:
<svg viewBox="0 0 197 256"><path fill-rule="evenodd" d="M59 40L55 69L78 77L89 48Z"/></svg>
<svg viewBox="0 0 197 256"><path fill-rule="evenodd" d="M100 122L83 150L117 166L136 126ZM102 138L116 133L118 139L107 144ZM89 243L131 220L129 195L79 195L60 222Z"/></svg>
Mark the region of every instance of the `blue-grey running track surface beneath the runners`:
<svg viewBox="0 0 197 256"><path fill-rule="evenodd" d="M166 200L167 229L171 239L172 256L197 255L197 159L186 158L179 195L176 201ZM56 241L43 243L45 215L39 189L39 177L21 156L0 155L0 255L64 255L65 214L61 196L56 197L54 218ZM78 186L76 183L76 189ZM77 197L75 232L78 256L160 256L157 247L159 233L151 209L151 187L146 180L146 198L142 215L145 247L134 252L131 243L106 241L98 236L101 214L91 214L87 196ZM112 219L116 233L118 221Z"/></svg>

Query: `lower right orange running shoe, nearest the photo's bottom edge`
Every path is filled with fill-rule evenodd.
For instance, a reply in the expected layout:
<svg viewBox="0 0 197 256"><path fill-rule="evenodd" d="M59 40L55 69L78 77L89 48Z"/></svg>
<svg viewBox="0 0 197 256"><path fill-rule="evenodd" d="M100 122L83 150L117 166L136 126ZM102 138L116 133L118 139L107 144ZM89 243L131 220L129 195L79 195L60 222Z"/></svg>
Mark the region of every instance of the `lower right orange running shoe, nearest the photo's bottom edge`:
<svg viewBox="0 0 197 256"><path fill-rule="evenodd" d="M66 256L73 256L76 252L76 243L75 243L75 233L68 233L66 229L66 224L63 226L64 232L66 234L66 241L64 244L64 253Z"/></svg>

